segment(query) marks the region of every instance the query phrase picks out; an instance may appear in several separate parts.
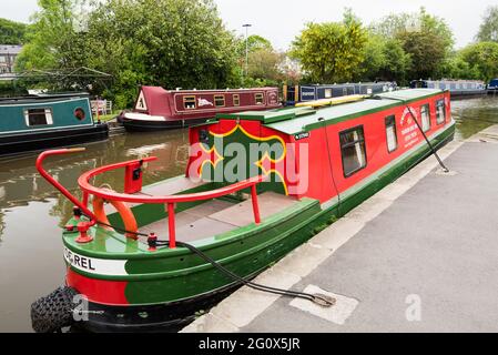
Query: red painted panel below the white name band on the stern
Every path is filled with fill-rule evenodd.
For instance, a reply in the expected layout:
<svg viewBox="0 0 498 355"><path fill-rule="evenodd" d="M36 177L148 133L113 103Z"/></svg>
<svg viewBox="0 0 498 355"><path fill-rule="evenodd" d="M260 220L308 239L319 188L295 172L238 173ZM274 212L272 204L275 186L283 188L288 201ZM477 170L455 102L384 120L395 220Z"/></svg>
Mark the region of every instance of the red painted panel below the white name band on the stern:
<svg viewBox="0 0 498 355"><path fill-rule="evenodd" d="M68 286L85 295L90 302L114 306L130 304L125 295L128 282L89 278L75 273L70 267L68 267L65 282Z"/></svg>

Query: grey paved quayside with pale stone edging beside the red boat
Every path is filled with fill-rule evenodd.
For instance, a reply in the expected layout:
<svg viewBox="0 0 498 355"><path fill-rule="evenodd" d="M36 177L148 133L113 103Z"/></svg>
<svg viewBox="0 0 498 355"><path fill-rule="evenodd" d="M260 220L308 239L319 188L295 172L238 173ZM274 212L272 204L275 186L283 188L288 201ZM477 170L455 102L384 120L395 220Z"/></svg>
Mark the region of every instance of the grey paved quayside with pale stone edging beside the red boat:
<svg viewBox="0 0 498 355"><path fill-rule="evenodd" d="M498 332L498 125L440 152L183 332ZM317 288L319 287L319 288Z"/></svg>

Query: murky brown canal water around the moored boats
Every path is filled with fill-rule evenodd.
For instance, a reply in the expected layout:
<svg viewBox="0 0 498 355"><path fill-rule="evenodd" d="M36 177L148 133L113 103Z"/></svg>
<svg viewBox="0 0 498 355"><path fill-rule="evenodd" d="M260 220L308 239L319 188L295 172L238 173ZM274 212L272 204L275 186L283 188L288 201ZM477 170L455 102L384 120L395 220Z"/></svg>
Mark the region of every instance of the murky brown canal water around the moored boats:
<svg viewBox="0 0 498 355"><path fill-rule="evenodd" d="M457 140L498 124L498 98L453 102ZM87 145L87 151L52 159L51 174L77 191L77 180L93 168L146 155L144 183L184 173L189 156L186 130L146 134L121 134ZM61 226L72 205L39 176L35 156L0 160L0 332L32 332L30 305L63 284ZM105 175L122 189L122 173Z"/></svg>

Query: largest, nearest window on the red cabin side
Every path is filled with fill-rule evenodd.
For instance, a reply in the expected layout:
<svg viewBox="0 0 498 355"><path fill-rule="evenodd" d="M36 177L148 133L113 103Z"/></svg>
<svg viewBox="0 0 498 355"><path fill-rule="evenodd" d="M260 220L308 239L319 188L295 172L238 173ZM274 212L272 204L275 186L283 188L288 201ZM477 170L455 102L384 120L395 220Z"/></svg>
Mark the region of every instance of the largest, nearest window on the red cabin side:
<svg viewBox="0 0 498 355"><path fill-rule="evenodd" d="M344 176L349 178L367 165L363 125L339 133Z"/></svg>

